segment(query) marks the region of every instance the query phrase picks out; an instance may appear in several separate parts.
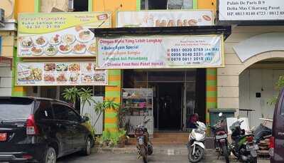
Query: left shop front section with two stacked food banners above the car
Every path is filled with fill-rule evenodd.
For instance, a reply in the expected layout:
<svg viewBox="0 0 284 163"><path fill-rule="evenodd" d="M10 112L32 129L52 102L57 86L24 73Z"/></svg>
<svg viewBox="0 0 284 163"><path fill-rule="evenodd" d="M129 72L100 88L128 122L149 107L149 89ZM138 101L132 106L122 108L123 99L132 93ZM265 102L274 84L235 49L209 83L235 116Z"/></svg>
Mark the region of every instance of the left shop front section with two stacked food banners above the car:
<svg viewBox="0 0 284 163"><path fill-rule="evenodd" d="M107 70L96 70L97 43L89 28L111 26L107 12L21 14L16 85L26 95L64 100L65 88L104 97ZM80 110L80 102L76 102Z"/></svg>

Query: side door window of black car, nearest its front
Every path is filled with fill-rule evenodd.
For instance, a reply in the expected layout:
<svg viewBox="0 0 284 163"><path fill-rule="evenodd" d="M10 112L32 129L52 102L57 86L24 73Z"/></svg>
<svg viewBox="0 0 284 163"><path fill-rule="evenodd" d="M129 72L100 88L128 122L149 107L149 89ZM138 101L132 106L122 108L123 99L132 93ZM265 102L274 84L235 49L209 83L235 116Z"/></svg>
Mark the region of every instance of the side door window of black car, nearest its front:
<svg viewBox="0 0 284 163"><path fill-rule="evenodd" d="M56 120L80 121L80 116L67 105L54 104L53 112Z"/></svg>

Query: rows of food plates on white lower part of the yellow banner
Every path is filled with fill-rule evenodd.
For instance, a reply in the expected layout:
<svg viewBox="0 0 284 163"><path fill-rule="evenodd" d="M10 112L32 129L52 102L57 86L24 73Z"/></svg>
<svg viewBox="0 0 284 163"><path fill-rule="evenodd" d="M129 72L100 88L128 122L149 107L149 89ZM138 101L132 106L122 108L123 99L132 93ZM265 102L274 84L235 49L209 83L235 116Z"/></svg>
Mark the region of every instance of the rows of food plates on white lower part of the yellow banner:
<svg viewBox="0 0 284 163"><path fill-rule="evenodd" d="M70 28L61 34L19 37L21 56L92 56L97 53L94 33L82 26ZM72 32L74 33L74 32Z"/></svg>

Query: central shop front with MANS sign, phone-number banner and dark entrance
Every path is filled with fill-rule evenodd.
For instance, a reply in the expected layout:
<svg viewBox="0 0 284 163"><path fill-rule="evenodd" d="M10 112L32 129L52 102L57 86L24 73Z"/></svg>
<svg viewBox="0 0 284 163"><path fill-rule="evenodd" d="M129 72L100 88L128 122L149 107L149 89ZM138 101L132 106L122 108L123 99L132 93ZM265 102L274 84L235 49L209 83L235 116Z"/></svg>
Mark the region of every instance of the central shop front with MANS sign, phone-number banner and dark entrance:
<svg viewBox="0 0 284 163"><path fill-rule="evenodd" d="M98 37L97 68L123 70L121 102L130 108L132 126L148 116L150 132L182 131L194 112L206 121L207 68L224 66L223 41L231 28L202 24L207 11L184 12L119 12L118 27L139 28L93 30ZM192 17L190 22L199 20L200 26L183 26L188 20L178 16L186 14Z"/></svg>

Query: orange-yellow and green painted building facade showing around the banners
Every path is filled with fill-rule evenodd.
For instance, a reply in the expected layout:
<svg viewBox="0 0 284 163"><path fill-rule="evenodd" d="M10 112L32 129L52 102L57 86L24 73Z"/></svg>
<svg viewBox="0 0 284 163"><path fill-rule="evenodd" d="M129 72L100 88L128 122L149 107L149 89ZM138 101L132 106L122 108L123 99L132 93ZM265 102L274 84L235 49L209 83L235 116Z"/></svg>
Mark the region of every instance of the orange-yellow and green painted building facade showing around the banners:
<svg viewBox="0 0 284 163"><path fill-rule="evenodd" d="M98 0L87 1L87 11L106 11L111 12L111 26L116 27L117 11L139 11L141 10L141 0ZM216 0L193 0L193 9L212 9L216 11ZM18 18L18 14L22 13L39 13L50 12L54 8L62 11L70 11L68 1L40 1L40 0L15 0L13 19ZM215 13L215 12L214 12ZM11 48L5 48L9 51L9 56L13 56L13 82L11 85L11 94L14 96L33 95L31 87L15 86L15 68L18 61L21 61L16 55L16 31L13 37L9 36L6 43L9 42ZM121 102L121 88L123 87L123 70L109 70L109 85L104 87L104 95L106 100L114 99L115 102ZM206 70L206 121L209 123L209 108L217 108L217 68L207 68ZM204 115L205 117L205 115ZM104 115L104 131L116 133L117 112L115 110L106 110Z"/></svg>

